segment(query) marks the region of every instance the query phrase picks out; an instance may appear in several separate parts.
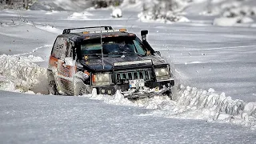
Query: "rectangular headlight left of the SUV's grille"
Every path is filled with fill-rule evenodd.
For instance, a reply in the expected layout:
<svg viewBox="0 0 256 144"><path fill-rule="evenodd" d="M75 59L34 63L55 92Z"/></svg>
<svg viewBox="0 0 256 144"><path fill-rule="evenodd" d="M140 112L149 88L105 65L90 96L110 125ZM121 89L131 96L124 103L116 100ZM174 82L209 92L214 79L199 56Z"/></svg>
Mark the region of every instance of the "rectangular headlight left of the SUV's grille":
<svg viewBox="0 0 256 144"><path fill-rule="evenodd" d="M94 86L110 85L110 73L94 74L93 84Z"/></svg>

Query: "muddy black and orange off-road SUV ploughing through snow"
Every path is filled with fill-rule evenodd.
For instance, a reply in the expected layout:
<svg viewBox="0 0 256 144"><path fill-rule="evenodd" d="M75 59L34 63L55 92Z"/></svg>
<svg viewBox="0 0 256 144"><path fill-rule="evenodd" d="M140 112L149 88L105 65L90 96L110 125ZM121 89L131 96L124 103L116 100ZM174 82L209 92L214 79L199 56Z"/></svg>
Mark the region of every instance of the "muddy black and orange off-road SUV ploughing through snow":
<svg viewBox="0 0 256 144"><path fill-rule="evenodd" d="M94 31L96 28L99 30ZM82 29L85 31L71 33ZM174 78L170 65L146 41L148 30L141 34L142 40L111 26L63 30L50 54L49 93L80 95L97 90L111 95L120 90L127 98L171 96Z"/></svg>

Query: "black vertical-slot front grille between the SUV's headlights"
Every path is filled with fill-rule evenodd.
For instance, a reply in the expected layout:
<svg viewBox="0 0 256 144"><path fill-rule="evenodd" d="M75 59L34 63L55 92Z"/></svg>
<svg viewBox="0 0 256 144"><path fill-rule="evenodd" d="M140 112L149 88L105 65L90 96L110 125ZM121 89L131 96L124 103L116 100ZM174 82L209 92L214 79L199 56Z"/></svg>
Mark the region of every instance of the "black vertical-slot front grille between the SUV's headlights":
<svg viewBox="0 0 256 144"><path fill-rule="evenodd" d="M122 70L114 72L117 83L129 83L129 80L144 79L145 82L153 79L152 69Z"/></svg>

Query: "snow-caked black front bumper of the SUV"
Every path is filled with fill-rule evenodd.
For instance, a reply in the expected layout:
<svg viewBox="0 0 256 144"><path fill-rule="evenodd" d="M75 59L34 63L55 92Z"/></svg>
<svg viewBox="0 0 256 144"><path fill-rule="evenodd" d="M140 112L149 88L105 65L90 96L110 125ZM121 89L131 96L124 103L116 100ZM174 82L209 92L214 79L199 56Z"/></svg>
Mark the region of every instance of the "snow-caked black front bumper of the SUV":
<svg viewBox="0 0 256 144"><path fill-rule="evenodd" d="M97 89L97 94L113 95L117 90L120 90L125 98L143 98L153 97L154 95L162 94L174 86L174 80L162 82L146 82L145 87L138 89L130 89L129 84L115 86L93 86Z"/></svg>

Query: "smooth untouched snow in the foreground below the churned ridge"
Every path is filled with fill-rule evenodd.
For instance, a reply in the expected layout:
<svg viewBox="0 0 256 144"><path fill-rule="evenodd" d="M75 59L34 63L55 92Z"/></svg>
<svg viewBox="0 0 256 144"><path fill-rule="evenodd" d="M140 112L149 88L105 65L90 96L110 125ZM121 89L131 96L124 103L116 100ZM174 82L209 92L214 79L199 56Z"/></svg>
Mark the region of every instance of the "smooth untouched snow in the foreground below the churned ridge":
<svg viewBox="0 0 256 144"><path fill-rule="evenodd" d="M148 116L83 97L2 91L0 102L1 143L255 142L255 131L242 126Z"/></svg>

